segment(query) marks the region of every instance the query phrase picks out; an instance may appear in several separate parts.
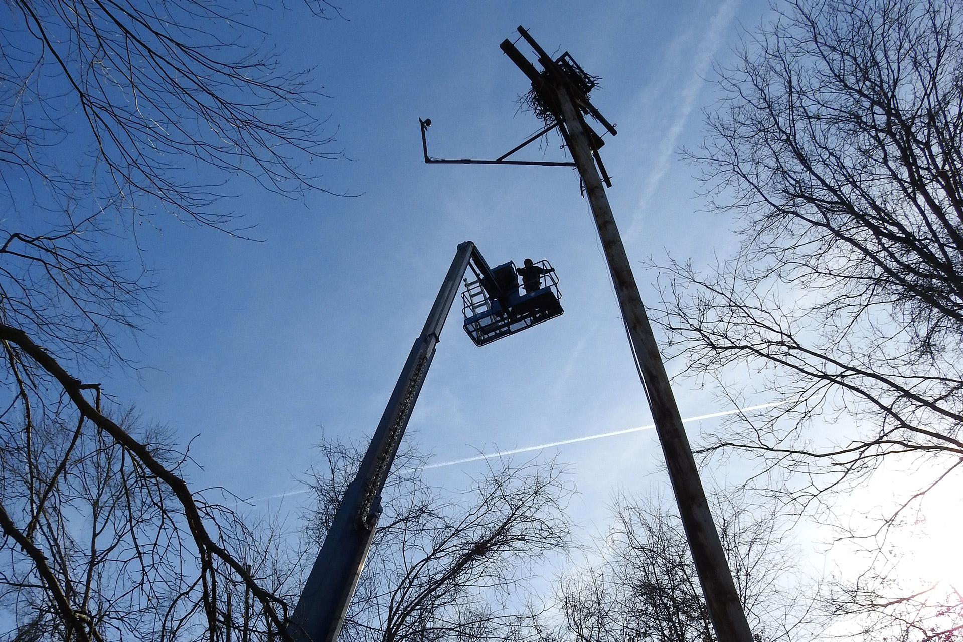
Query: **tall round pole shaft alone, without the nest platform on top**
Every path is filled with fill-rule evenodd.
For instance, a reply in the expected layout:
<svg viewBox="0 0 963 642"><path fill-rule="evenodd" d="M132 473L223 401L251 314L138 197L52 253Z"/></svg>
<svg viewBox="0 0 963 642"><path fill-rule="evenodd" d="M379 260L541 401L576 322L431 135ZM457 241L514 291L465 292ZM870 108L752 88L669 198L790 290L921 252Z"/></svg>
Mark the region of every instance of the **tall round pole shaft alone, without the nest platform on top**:
<svg viewBox="0 0 963 642"><path fill-rule="evenodd" d="M649 399L652 420L659 433L668 476L679 505L702 592L709 605L709 615L716 629L716 637L719 642L753 642L752 632L745 620L736 584L726 562L725 552L722 551L702 482L699 480L679 408L665 374L662 356L656 346L641 296L638 295L636 277L625 254L618 227L615 226L609 197L592 159L582 116L576 110L568 90L564 87L555 89L568 134L568 150L586 186L588 202L595 217L606 260L609 262L622 317L629 328L632 349L641 371L642 386Z"/></svg>

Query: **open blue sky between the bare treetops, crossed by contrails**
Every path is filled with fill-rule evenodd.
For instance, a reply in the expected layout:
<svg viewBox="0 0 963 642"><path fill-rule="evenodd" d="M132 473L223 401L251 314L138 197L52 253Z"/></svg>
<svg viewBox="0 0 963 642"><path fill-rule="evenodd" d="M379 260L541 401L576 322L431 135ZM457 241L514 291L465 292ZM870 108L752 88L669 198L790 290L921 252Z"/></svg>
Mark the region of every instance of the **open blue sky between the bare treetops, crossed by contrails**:
<svg viewBox="0 0 963 642"><path fill-rule="evenodd" d="M418 118L433 121L434 156L498 156L539 126L519 112L527 81L501 40L523 24L549 52L571 52L602 77L592 99L618 125L602 150L612 209L643 300L655 305L656 275L641 260L668 251L698 265L732 243L730 221L700 211L697 169L678 149L700 140L713 57L724 61L740 23L767 11L755 0L683 0L357 3L332 20L298 7L273 13L262 26L284 60L316 66L330 96L319 114L330 115L346 160L321 162L325 186L357 195L245 193L233 207L256 223L260 243L157 219L142 243L160 269L165 314L140 340L140 375L118 370L106 389L182 441L197 436L197 485L247 497L293 489L322 430L371 435L455 246L472 240L492 265L549 260L565 314L475 347L455 307L409 438L449 461L648 424L574 170L427 166ZM559 145L550 137L528 157L560 160ZM726 409L689 380L675 390L684 417ZM586 522L613 488L663 483L651 431L547 454L556 451L572 466ZM428 475L456 484L477 467Z"/></svg>

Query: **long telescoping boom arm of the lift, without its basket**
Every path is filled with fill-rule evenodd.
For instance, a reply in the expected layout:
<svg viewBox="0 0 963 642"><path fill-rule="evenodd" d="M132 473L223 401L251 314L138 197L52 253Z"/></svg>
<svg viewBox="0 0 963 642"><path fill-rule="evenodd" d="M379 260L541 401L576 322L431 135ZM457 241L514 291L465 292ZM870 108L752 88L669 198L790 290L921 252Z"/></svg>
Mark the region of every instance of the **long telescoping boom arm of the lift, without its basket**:
<svg viewBox="0 0 963 642"><path fill-rule="evenodd" d="M425 328L411 347L395 390L377 424L371 446L338 506L325 543L304 584L288 625L288 633L298 642L335 642L341 632L351 596L375 536L381 514L381 490L470 261L481 273L489 295L493 298L504 296L475 244L466 241L458 245L455 260L431 307Z"/></svg>

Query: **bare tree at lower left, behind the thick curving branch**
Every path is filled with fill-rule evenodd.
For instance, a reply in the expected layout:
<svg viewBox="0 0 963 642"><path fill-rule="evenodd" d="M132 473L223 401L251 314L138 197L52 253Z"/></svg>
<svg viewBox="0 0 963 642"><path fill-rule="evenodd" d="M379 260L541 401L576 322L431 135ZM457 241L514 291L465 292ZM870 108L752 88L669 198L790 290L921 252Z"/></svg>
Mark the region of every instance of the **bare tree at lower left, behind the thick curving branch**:
<svg viewBox="0 0 963 642"><path fill-rule="evenodd" d="M284 602L266 588L280 577L276 535L258 541L226 506L185 499L186 459L167 431L130 411L102 421L53 414L3 432L0 604L16 637L213 639L232 584L258 614L283 620Z"/></svg>

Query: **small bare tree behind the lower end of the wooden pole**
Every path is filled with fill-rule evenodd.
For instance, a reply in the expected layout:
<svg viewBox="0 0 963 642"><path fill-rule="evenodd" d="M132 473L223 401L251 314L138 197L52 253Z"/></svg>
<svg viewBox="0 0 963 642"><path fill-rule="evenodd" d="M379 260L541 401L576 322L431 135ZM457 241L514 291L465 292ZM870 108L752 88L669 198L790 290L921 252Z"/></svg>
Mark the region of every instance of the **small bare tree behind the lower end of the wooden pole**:
<svg viewBox="0 0 963 642"><path fill-rule="evenodd" d="M744 495L714 498L713 513L755 639L814 639L816 582L793 558L772 506ZM659 500L620 495L608 535L560 579L558 639L578 642L711 642L715 633L682 522ZM808 589L807 596L804 589Z"/></svg>

